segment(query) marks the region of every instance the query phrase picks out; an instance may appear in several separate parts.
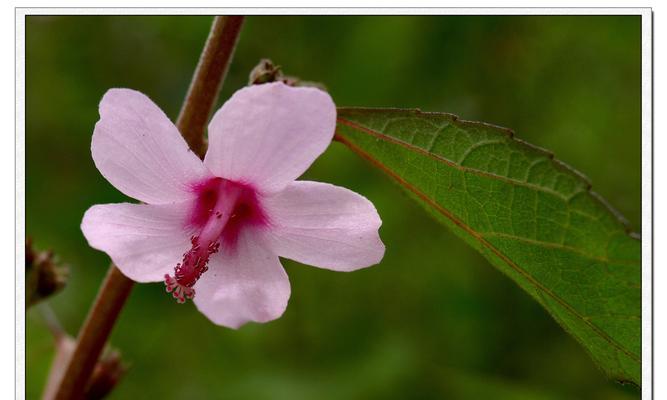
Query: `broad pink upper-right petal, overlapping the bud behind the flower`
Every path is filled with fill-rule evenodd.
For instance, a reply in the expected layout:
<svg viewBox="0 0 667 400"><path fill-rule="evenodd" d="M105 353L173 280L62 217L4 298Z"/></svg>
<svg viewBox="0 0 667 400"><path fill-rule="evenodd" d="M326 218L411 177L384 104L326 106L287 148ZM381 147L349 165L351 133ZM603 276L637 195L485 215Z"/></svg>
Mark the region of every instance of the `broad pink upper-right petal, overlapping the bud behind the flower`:
<svg viewBox="0 0 667 400"><path fill-rule="evenodd" d="M204 163L216 175L276 192L324 152L336 128L336 106L326 92L283 83L243 88L208 127Z"/></svg>

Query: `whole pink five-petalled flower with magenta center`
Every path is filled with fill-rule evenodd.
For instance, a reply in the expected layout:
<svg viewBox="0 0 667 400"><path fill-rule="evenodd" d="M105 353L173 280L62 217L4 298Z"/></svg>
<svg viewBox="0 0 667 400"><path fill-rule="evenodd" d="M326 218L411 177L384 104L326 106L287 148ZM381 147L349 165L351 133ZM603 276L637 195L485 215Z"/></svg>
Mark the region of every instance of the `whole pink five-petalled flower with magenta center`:
<svg viewBox="0 0 667 400"><path fill-rule="evenodd" d="M164 281L216 324L276 319L290 296L278 256L353 271L384 255L370 201L295 180L329 146L335 125L335 105L321 90L246 87L211 120L202 162L148 97L111 89L100 103L93 160L145 204L95 205L81 230L128 278Z"/></svg>

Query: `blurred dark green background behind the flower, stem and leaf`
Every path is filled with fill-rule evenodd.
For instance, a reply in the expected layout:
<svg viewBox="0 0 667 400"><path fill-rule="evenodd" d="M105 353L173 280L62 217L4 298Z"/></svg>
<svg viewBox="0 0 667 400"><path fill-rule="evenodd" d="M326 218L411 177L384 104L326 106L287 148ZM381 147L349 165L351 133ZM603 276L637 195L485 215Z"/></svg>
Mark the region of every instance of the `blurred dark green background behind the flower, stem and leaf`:
<svg viewBox="0 0 667 400"><path fill-rule="evenodd" d="M79 229L128 201L90 137L111 87L172 119L211 17L48 17L26 23L26 231L71 266L50 303L75 334L106 272ZM419 107L506 126L584 172L640 230L638 16L249 17L220 102L260 58L326 85L340 106ZM632 399L536 302L379 171L334 143L304 179L349 187L383 218L383 262L343 274L284 261L285 315L233 331L161 284L137 285L112 335L131 369L114 399ZM131 201L131 200L129 200ZM53 339L27 313L27 397Z"/></svg>

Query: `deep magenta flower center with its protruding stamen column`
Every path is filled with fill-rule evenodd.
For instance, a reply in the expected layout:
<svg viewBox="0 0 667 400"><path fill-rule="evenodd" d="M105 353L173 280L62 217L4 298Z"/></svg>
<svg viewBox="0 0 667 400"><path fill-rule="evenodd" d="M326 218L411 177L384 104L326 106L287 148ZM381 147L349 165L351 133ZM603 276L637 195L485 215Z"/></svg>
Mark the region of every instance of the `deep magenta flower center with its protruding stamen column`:
<svg viewBox="0 0 667 400"><path fill-rule="evenodd" d="M239 233L248 226L266 226L257 192L249 185L222 178L211 178L193 187L197 200L188 225L198 234L190 238L191 247L183 260L166 274L167 292L179 302L195 296L194 284L208 271L210 257L218 251L232 252Z"/></svg>

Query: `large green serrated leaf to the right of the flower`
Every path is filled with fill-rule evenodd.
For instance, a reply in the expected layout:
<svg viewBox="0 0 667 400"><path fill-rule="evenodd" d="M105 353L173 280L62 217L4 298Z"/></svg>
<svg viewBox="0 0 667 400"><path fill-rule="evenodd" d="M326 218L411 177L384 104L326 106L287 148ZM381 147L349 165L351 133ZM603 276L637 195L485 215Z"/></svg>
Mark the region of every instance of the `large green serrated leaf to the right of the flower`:
<svg viewBox="0 0 667 400"><path fill-rule="evenodd" d="M335 139L527 291L611 378L640 384L641 243L584 176L451 114L340 108Z"/></svg>

